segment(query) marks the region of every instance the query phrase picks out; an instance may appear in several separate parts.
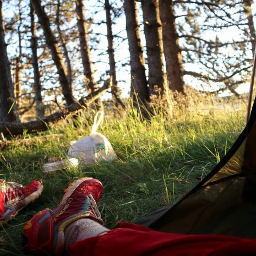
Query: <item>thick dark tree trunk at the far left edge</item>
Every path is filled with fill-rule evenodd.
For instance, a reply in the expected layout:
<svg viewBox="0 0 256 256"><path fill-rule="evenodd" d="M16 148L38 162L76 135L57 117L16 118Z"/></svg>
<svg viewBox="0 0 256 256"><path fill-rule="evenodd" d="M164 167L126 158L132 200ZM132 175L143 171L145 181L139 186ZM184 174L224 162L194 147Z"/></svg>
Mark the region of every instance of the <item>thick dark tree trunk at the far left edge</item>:
<svg viewBox="0 0 256 256"><path fill-rule="evenodd" d="M14 113L14 90L10 74L10 64L4 40L3 1L0 0L0 122L18 121ZM9 112L9 113L8 113Z"/></svg>

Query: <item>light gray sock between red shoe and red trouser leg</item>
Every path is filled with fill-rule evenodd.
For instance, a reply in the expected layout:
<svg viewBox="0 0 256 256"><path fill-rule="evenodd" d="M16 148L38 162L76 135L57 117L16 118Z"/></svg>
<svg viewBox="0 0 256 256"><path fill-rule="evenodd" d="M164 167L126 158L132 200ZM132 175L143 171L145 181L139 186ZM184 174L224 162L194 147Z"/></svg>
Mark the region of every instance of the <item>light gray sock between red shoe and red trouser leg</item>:
<svg viewBox="0 0 256 256"><path fill-rule="evenodd" d="M89 237L99 236L107 231L108 229L106 227L89 218L74 221L64 229L65 249L67 250L69 244Z"/></svg>

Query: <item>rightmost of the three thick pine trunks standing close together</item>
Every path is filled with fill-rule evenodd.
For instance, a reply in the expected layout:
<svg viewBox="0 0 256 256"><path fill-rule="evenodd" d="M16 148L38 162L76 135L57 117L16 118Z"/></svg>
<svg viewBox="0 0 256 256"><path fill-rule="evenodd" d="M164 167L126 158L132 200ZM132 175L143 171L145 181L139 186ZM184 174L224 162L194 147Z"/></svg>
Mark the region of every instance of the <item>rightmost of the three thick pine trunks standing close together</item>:
<svg viewBox="0 0 256 256"><path fill-rule="evenodd" d="M183 61L178 44L172 0L159 0L167 83L172 91L184 94Z"/></svg>

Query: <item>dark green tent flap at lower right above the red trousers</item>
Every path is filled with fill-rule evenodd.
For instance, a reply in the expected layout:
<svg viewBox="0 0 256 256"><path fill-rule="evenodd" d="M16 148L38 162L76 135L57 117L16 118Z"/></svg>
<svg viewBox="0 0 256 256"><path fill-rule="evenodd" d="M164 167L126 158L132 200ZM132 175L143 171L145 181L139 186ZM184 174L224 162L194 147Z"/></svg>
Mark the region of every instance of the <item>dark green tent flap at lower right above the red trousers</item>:
<svg viewBox="0 0 256 256"><path fill-rule="evenodd" d="M157 231L256 238L256 104L231 149L176 204L136 222Z"/></svg>

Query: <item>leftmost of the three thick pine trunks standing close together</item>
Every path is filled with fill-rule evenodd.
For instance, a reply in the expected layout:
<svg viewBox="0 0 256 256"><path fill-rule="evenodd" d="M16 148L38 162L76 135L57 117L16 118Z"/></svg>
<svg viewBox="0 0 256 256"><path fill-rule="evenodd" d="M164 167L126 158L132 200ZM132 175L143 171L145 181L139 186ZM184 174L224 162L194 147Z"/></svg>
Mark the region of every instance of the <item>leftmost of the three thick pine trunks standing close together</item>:
<svg viewBox="0 0 256 256"><path fill-rule="evenodd" d="M124 0L126 14L126 32L130 52L131 95L133 101L147 106L149 102L149 89L145 73L145 59L143 46L140 41L138 10L135 0Z"/></svg>

